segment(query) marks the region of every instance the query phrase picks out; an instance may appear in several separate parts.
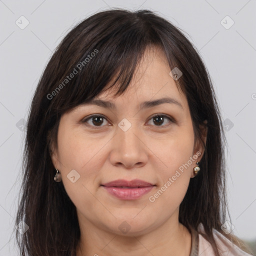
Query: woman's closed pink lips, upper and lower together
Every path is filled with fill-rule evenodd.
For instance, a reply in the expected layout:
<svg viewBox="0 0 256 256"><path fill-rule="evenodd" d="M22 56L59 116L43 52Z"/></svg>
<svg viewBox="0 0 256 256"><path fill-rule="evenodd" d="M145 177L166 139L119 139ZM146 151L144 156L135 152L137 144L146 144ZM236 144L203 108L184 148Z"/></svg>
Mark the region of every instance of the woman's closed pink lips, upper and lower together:
<svg viewBox="0 0 256 256"><path fill-rule="evenodd" d="M101 186L119 199L134 200L148 193L154 185L141 179L132 179L130 181L117 179Z"/></svg>

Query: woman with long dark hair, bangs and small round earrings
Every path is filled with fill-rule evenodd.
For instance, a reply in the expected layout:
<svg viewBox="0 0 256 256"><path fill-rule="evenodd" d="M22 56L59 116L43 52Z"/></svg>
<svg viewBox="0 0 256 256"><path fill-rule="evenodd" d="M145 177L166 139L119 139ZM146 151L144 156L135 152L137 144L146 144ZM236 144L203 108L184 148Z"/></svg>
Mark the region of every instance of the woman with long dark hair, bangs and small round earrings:
<svg viewBox="0 0 256 256"><path fill-rule="evenodd" d="M86 18L32 100L20 255L249 255L226 220L224 141L179 29L149 10Z"/></svg>

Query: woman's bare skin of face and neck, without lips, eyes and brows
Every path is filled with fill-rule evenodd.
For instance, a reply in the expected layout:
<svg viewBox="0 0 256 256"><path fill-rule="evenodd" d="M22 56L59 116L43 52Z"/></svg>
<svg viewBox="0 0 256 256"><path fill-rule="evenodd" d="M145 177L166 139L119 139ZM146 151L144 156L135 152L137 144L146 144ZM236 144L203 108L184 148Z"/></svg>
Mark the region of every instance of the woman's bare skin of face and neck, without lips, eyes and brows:
<svg viewBox="0 0 256 256"><path fill-rule="evenodd" d="M199 141L194 143L187 100L169 75L164 53L158 48L147 49L136 71L121 96L114 98L105 91L96 97L115 103L116 109L79 105L60 119L52 162L76 206L81 232L78 256L190 253L191 235L178 222L178 211L204 148ZM143 101L166 96L179 101L183 109L170 103L139 109ZM105 119L82 122L91 114L104 115ZM175 121L165 117L159 123L152 118L155 114ZM126 131L118 127L122 118L131 123ZM149 201L149 196L198 151L200 156L179 171L181 175L154 202ZM72 169L80 175L74 183L67 178ZM138 178L156 186L136 200L122 200L100 186L118 178ZM118 228L124 220L130 226L127 233Z"/></svg>

